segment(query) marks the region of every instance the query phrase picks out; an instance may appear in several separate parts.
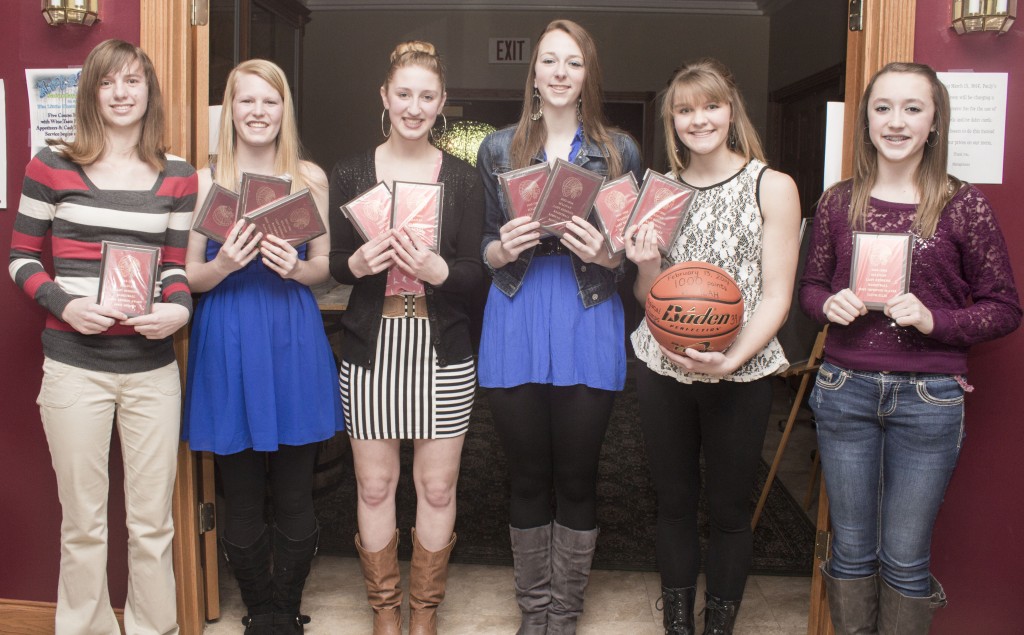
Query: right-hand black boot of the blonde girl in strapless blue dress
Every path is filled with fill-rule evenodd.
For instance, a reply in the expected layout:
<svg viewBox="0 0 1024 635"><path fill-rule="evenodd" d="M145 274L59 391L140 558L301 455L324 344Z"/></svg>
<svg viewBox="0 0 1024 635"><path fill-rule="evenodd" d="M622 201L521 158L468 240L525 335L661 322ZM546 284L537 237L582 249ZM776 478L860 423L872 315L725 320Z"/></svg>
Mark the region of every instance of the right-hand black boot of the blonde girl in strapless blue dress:
<svg viewBox="0 0 1024 635"><path fill-rule="evenodd" d="M309 616L299 612L302 589L316 555L319 526L309 536L292 540L281 530L273 530L273 633L292 635L302 633L309 624Z"/></svg>

